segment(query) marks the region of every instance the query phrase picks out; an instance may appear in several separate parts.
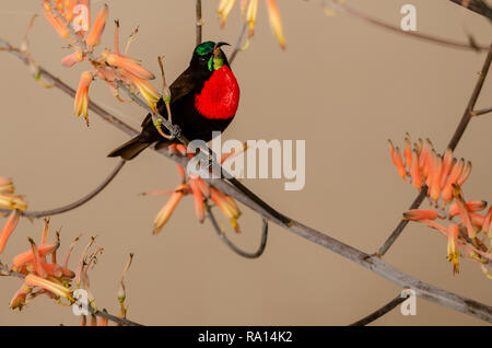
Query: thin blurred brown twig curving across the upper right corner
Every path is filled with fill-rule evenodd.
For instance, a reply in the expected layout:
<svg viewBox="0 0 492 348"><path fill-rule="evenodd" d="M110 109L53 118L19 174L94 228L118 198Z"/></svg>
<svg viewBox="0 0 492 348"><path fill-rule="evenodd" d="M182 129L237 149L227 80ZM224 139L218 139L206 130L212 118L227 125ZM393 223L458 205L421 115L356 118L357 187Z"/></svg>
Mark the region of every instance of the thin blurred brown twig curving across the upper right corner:
<svg viewBox="0 0 492 348"><path fill-rule="evenodd" d="M481 46L481 45L477 45L471 38L469 43L461 43L461 42L455 42L455 40L450 40L450 39L445 39L445 38L441 38L441 37L436 37L433 35L427 35L427 34L422 34L422 33L418 33L418 32L405 32L402 31L399 26L396 25L391 25L388 23L385 23L378 19L368 16L365 13L359 12L358 10L354 10L350 7L348 7L344 3L341 2L335 2L336 0L326 0L325 3L343 13L347 13L353 18L356 18L359 20L362 20L366 23L370 24L374 24L376 26L386 28L388 31L391 31L394 33L398 33L398 34L402 34L402 35L407 35L413 38L418 38L418 39L422 39L422 40L426 40L430 43L434 43L434 44L438 44L438 45L443 45L443 46L448 46L448 47L453 47L453 48L459 48L459 49L469 49L469 50L475 50L475 51L488 51L490 50L490 47L487 46Z"/></svg>

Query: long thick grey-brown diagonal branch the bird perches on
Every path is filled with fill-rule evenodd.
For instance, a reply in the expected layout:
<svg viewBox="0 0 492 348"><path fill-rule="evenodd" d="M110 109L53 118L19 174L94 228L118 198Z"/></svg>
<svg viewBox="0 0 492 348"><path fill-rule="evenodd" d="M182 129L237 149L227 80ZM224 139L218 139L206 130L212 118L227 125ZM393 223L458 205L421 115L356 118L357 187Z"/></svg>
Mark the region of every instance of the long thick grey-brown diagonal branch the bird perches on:
<svg viewBox="0 0 492 348"><path fill-rule="evenodd" d="M5 45L5 42L0 39L0 47ZM17 56L17 55L16 55ZM24 57L25 58L25 57ZM27 62L26 59L22 59L24 62ZM51 79L52 74L46 71L43 68L39 68L39 73L46 78ZM74 91L66 83L61 82L59 79L56 80L57 83L55 86L60 88L62 91L67 92L67 94L73 96ZM138 132L136 129L129 127L125 123L120 121L114 115L106 112L104 108L98 106L97 104L90 102L89 108L102 116L104 119L107 119L112 125L117 127L118 129L125 131L127 135L134 137ZM185 167L188 164L188 159L185 156L179 156L177 154L169 154L167 150L160 149L156 150L157 153L172 159L176 163L184 165ZM269 212L263 205L260 205L258 201L254 200L251 197L247 196L239 188L233 186L225 179L218 178L207 178L209 184L215 186L218 189L222 190L224 194L231 196L232 198L241 201L249 209L256 211L263 218L269 221L277 223L281 228L295 233L317 245L320 245L324 248L332 251L352 262L358 263L359 265L374 271L375 274L388 279L389 281L402 287L402 288L411 288L415 291L415 294L422 299L432 301L434 303L438 303L452 310L462 312L465 314L481 318L489 323L492 323L492 308L480 303L478 301L467 299L460 297L458 294L448 292L446 290L436 288L432 285L425 283L419 279L415 279L409 275L401 272L400 270L394 268L393 266L386 264L379 257L371 256L362 251L359 251L348 244L344 244L329 235L326 235L317 230L314 230L309 227L306 227L300 222L294 220L290 220L290 224L285 224L281 219L277 216ZM266 205L266 204L265 204ZM268 205L267 205L268 206Z"/></svg>

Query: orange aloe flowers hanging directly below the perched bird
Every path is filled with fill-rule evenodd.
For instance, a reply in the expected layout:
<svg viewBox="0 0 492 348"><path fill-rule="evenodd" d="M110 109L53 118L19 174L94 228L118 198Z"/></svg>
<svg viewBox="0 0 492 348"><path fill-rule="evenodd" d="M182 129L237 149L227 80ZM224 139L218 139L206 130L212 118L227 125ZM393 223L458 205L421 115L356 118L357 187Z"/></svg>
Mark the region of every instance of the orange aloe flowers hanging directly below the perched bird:
<svg viewBox="0 0 492 348"><path fill-rule="evenodd" d="M243 150L245 148L243 147ZM186 155L188 158L191 158L194 155L192 153L187 152L186 147L181 144L171 146L169 151L173 153L178 151L179 154ZM225 160L232 158L233 155L236 155L237 153L238 152L236 151L232 151L231 153L224 154L220 160L220 163L222 164ZM181 198L187 195L194 196L195 213L200 223L203 222L204 220L206 209L208 208L207 205L210 199L215 205L215 207L218 207L221 210L224 217L229 219L233 229L236 232L239 232L237 219L241 216L241 211L234 199L225 195L218 188L207 184L207 182L203 181L200 176L194 174L187 175L186 170L180 164L178 164L177 167L180 177L180 183L179 185L176 186L176 188L173 192L155 190L143 194L147 196L171 195L167 202L164 205L164 207L161 209L161 211L154 219L153 233L156 234L162 230L162 228L169 220L171 216L173 214L174 210L176 209Z"/></svg>

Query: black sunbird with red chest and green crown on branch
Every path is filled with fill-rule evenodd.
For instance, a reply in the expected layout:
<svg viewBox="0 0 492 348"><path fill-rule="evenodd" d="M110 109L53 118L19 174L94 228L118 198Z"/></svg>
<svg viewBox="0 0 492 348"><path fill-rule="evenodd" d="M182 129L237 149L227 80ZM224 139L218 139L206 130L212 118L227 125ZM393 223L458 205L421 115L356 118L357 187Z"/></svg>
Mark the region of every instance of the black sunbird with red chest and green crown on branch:
<svg viewBox="0 0 492 348"><path fill-rule="evenodd" d="M212 139L212 131L223 131L233 120L239 103L239 85L220 48L226 43L204 42L198 45L189 67L171 84L171 113L188 140ZM163 98L157 111L168 119ZM147 115L142 131L136 138L113 150L108 156L131 160L153 143L163 148L177 140L165 139L155 128L152 115Z"/></svg>

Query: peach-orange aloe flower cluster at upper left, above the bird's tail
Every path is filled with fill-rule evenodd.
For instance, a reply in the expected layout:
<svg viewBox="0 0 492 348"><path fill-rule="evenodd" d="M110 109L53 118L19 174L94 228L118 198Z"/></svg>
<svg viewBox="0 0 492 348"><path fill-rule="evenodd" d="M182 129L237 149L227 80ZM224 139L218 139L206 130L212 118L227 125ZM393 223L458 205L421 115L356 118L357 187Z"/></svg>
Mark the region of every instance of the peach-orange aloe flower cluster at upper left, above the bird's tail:
<svg viewBox="0 0 492 348"><path fill-rule="evenodd" d="M73 53L61 59L66 67L73 67L82 61L89 61L93 69L82 72L74 101L74 114L83 116L89 125L89 88L94 79L106 82L113 94L119 97L121 85L131 93L139 93L155 112L155 104L161 95L149 83L155 77L144 69L140 61L129 57L128 49L137 32L128 39L125 51L119 49L119 22L115 21L114 49L104 49L98 55L96 47L101 44L108 18L106 4L99 10L91 25L91 9L87 0L43 0L44 14L57 33L70 42Z"/></svg>

